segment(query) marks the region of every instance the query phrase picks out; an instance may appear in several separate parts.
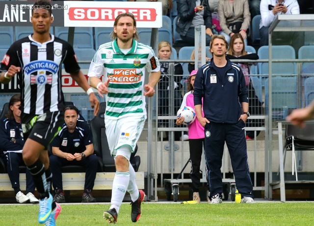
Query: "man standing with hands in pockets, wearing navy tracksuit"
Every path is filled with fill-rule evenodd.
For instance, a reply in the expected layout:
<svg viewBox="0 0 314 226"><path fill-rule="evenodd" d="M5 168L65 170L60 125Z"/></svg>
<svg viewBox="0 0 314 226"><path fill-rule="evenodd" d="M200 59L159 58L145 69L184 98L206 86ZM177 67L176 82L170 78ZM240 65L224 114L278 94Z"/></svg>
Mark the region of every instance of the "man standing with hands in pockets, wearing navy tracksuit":
<svg viewBox="0 0 314 226"><path fill-rule="evenodd" d="M211 61L199 68L194 82L197 117L205 128L205 156L211 203L221 203L222 156L226 141L241 203L253 203L253 185L247 162L244 124L249 116L248 94L241 68L226 58L228 43L222 35L210 42ZM202 117L202 97L204 117ZM243 110L243 113L242 113Z"/></svg>

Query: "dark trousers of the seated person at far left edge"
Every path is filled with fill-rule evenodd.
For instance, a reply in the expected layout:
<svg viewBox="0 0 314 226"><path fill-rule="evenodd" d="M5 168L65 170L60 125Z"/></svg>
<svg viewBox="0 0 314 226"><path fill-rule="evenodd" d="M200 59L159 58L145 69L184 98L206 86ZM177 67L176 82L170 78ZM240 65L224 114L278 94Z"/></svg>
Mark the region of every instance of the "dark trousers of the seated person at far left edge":
<svg viewBox="0 0 314 226"><path fill-rule="evenodd" d="M12 188L20 187L20 169L19 166L24 164L22 153L8 152L6 153L8 172ZM26 194L35 191L33 177L26 168Z"/></svg>

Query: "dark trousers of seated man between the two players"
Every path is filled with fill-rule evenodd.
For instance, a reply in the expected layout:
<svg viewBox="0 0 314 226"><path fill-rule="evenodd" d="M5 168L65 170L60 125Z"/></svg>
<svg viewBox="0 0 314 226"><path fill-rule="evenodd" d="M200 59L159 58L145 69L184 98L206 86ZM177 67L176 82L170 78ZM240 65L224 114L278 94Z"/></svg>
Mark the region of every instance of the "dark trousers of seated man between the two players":
<svg viewBox="0 0 314 226"><path fill-rule="evenodd" d="M58 156L52 155L49 157L49 160L50 169L52 172L52 186L54 190L63 190L61 167L65 165L83 166L86 169L84 189L93 190L98 168L98 158L96 155L90 155L80 161L68 161L66 158L60 158Z"/></svg>

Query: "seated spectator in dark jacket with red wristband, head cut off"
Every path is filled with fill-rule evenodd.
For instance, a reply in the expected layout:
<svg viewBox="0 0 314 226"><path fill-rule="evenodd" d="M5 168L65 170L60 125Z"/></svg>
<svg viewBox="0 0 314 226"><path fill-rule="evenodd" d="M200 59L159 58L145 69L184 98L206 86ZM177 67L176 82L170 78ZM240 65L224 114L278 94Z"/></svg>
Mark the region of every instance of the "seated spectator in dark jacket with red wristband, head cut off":
<svg viewBox="0 0 314 226"><path fill-rule="evenodd" d="M198 25L206 26L206 45L210 44L212 22L207 2L206 0L177 0L176 31L182 40L190 45L194 45L194 27Z"/></svg>

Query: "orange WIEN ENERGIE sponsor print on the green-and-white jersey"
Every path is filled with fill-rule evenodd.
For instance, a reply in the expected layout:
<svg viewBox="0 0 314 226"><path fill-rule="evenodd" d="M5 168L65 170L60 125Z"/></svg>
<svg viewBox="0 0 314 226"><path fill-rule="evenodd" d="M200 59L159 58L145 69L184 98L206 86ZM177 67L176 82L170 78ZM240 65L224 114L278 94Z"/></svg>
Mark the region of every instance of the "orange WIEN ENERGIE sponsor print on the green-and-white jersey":
<svg viewBox="0 0 314 226"><path fill-rule="evenodd" d="M113 69L113 74L108 74L111 82L134 83L141 80L141 74L136 74L136 69Z"/></svg>

